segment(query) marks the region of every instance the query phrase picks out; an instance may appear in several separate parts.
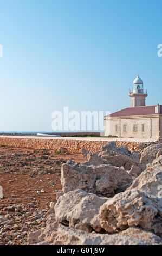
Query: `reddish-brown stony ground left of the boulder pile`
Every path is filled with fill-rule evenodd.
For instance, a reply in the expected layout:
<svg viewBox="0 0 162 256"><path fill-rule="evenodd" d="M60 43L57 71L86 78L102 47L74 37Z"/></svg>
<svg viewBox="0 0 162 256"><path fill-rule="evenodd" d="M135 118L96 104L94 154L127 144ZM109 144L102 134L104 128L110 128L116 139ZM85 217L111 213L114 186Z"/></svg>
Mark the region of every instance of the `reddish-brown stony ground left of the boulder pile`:
<svg viewBox="0 0 162 256"><path fill-rule="evenodd" d="M29 231L46 227L54 210L61 164L84 162L82 154L0 147L0 244L26 245ZM51 218L51 216L50 216Z"/></svg>

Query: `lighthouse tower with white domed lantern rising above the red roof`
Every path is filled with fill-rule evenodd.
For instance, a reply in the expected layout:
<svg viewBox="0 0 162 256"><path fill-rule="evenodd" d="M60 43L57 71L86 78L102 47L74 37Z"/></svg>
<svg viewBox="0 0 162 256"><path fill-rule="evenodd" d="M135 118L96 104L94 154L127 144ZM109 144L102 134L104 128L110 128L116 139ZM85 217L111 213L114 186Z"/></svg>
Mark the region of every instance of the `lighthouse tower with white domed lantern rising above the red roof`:
<svg viewBox="0 0 162 256"><path fill-rule="evenodd" d="M133 81L133 90L129 90L129 97L131 97L131 107L146 105L147 90L144 90L144 83L139 75Z"/></svg>

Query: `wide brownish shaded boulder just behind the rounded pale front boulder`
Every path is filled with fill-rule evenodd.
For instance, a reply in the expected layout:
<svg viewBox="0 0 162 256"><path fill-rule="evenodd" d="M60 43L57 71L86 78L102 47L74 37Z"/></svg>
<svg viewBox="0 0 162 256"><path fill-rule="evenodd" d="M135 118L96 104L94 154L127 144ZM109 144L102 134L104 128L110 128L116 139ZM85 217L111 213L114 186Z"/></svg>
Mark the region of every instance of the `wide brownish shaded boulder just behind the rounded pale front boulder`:
<svg viewBox="0 0 162 256"><path fill-rule="evenodd" d="M113 197L132 184L126 170L110 164L91 165L68 161L62 164L61 185L63 193L81 189L99 196Z"/></svg>

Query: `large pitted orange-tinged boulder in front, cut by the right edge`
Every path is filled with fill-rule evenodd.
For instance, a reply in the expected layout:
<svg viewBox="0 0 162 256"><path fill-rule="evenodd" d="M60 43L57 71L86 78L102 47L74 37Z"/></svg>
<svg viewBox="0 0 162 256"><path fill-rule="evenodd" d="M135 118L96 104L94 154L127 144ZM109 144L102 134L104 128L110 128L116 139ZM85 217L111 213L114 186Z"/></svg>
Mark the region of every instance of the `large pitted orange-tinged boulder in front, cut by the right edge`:
<svg viewBox="0 0 162 256"><path fill-rule="evenodd" d="M162 236L162 199L139 190L116 194L100 207L101 227L119 233L133 225Z"/></svg>

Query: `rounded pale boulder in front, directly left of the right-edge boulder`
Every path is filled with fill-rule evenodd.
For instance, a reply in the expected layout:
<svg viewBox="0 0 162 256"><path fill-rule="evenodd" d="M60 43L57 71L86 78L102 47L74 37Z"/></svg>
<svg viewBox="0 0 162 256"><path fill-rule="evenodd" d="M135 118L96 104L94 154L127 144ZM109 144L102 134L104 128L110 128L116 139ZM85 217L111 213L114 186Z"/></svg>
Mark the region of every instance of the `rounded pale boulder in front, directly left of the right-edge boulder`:
<svg viewBox="0 0 162 256"><path fill-rule="evenodd" d="M70 191L55 205L56 221L75 229L100 232L99 208L107 199L83 190Z"/></svg>

